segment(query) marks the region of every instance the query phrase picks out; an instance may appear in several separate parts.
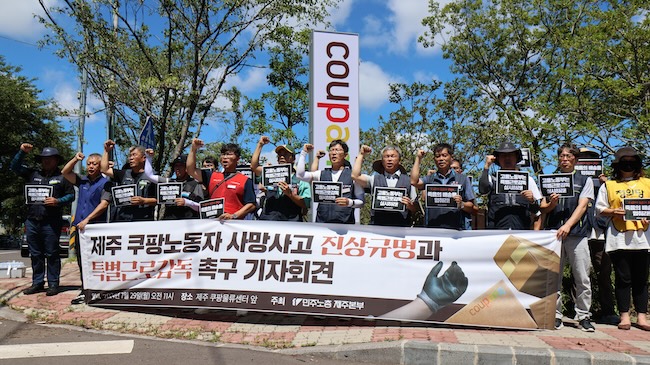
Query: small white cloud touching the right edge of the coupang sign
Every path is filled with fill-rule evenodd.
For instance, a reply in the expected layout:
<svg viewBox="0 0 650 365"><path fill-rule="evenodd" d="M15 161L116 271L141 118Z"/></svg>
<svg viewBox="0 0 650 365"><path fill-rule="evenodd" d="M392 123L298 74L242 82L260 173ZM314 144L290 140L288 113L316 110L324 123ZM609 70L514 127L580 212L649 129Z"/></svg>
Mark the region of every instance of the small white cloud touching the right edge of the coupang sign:
<svg viewBox="0 0 650 365"><path fill-rule="evenodd" d="M359 98L361 107L378 109L388 102L388 84L399 82L377 64L361 62L359 65Z"/></svg>

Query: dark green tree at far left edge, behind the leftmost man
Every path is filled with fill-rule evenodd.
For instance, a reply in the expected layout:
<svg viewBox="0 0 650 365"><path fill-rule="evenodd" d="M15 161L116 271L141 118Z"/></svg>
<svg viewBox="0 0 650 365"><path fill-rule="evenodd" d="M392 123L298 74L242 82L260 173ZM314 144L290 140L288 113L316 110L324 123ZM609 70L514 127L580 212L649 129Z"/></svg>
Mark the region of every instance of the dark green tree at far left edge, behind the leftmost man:
<svg viewBox="0 0 650 365"><path fill-rule="evenodd" d="M38 97L39 90L34 81L20 75L19 67L8 65L0 56L0 129L3 131L0 144L0 222L10 232L16 233L24 221L22 179L9 170L11 160L22 143L34 145L40 153L43 147L56 147L64 158L72 157L70 144L72 135L65 132L56 117L59 110L50 101ZM38 167L30 154L25 163Z"/></svg>

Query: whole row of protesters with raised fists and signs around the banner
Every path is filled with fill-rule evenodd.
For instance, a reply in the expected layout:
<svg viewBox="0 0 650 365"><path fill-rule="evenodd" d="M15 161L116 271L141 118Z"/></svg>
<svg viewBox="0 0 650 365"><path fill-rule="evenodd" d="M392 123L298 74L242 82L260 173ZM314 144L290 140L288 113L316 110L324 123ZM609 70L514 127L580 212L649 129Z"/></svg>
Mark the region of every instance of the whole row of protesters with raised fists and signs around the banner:
<svg viewBox="0 0 650 365"><path fill-rule="evenodd" d="M478 204L470 178L463 174L461 163L454 159L454 148L447 143L437 144L432 152L418 150L410 173L402 164L399 148L386 146L381 158L372 164L370 174L362 173L363 160L372 149L362 146L350 164L348 145L342 140L332 141L328 151L318 151L309 169L306 169L311 144L305 144L298 156L286 146L275 148L277 163L290 165L288 181L264 186L256 184L255 177L263 172L260 163L262 149L271 141L262 136L256 145L251 164L246 166L249 175L242 173L241 149L236 144L224 144L218 159L207 157L197 167L197 151L203 142L194 139L190 153L181 155L171 163L173 178L165 178L153 171L153 151L141 146L129 149L128 164L116 169L109 161L115 143L104 143L103 155L91 154L86 158L86 176L72 172L85 156L77 153L63 168L64 159L55 148L45 147L36 156L38 169L23 165L24 157L33 146L20 146L11 169L24 177L32 188L38 185L51 187L44 199L29 201L25 222L29 253L32 260L32 285L25 294L46 291L48 296L59 292L61 261L59 235L62 208L75 199L73 186L78 187L77 208L73 225L83 231L88 224L98 222L131 222L156 219L196 219L200 205L208 199L223 199L220 220L260 219L275 221L305 221L312 207L311 182L340 184L340 194L330 204L320 203L313 211L319 223L357 223L355 211L363 207L365 194L376 188L401 189L401 209L371 209L370 224L412 226L422 213L421 225L429 228L471 229L476 219ZM433 153L435 169L420 173L421 162L427 153ZM329 154L327 168L319 169L319 160ZM297 157L297 158L296 158ZM557 173L572 179L570 195L558 193L543 196L535 179L528 175L520 191L503 192L499 188L496 171L515 172L522 160L522 151L511 142L503 142L485 157L484 169L478 181L478 193L486 197L486 228L502 230L553 229L563 242L561 267L571 266L575 319L583 331L593 332L591 324L592 269L598 278L600 304L599 319L616 324L622 330L632 326L630 297L637 313L635 325L650 331L646 320L648 306L648 267L650 265L649 221L626 217L623 199L650 197L650 180L643 175L640 155L632 147L616 151L612 162L613 174L596 178L583 176L576 170L581 158L598 158L598 154L575 145L564 144L557 150ZM494 168L493 165L498 166ZM252 179L251 179L252 177ZM182 192L173 204L157 206L157 184L182 183ZM114 206L112 188L134 185L135 194L128 204ZM427 187L452 188L446 206L424 204ZM49 188L48 188L49 189ZM26 189L27 191L27 189ZM35 190L35 196L36 194ZM78 240L77 240L78 242ZM81 257L77 249L78 262ZM610 279L612 264L615 273L614 288ZM47 289L45 279L47 278ZM82 278L83 282L83 278ZM613 294L615 293L615 295ZM614 296L620 317L614 311ZM84 302L83 292L73 304ZM562 303L558 296L555 327L563 326Z"/></svg>

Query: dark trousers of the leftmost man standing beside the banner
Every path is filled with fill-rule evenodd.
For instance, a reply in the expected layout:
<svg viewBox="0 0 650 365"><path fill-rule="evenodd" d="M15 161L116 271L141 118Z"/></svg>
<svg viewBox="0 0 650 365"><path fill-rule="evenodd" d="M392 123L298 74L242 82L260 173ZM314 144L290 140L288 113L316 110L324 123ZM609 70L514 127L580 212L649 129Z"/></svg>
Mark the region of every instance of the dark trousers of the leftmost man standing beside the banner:
<svg viewBox="0 0 650 365"><path fill-rule="evenodd" d="M47 285L59 285L61 275L61 257L59 257L59 237L61 236L61 218L35 220L27 219L27 247L32 259L32 285L45 283L45 263L47 262Z"/></svg>

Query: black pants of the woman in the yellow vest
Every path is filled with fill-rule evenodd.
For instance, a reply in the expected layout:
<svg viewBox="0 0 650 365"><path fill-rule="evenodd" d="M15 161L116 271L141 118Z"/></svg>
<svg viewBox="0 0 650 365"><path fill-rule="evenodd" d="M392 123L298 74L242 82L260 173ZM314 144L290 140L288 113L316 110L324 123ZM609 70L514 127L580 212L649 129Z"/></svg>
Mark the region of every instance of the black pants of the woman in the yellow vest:
<svg viewBox="0 0 650 365"><path fill-rule="evenodd" d="M648 250L616 250L609 253L616 278L614 291L619 312L630 311L630 291L637 313L648 312Z"/></svg>

